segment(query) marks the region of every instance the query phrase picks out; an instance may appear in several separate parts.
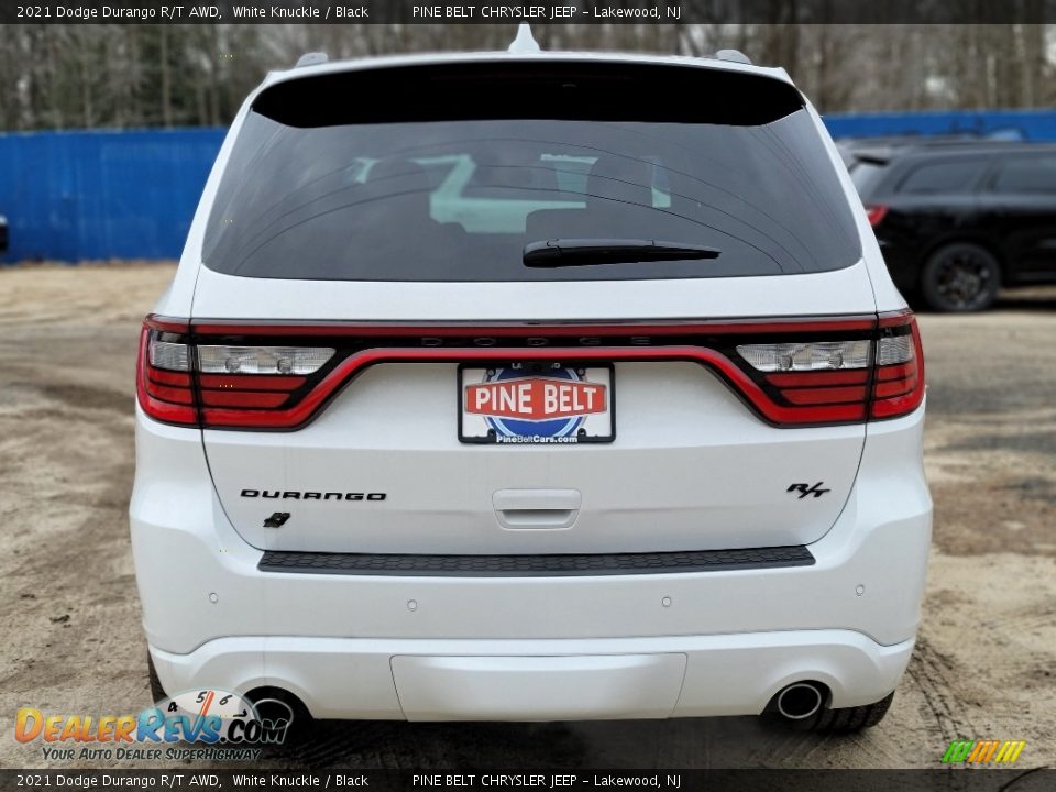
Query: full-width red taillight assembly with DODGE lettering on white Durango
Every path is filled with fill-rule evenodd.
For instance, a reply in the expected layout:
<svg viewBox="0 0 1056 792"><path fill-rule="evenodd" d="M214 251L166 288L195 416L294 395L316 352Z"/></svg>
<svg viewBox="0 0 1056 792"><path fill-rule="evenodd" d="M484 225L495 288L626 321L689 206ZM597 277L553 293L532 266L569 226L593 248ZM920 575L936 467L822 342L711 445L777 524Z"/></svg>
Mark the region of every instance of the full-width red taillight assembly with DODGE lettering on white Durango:
<svg viewBox="0 0 1056 792"><path fill-rule="evenodd" d="M352 377L378 363L573 358L695 362L778 427L895 418L916 409L924 398L921 340L910 311L715 326L580 324L574 333L566 326L534 324L519 336L508 327L359 326L354 334L350 329L191 326L147 317L138 364L140 405L150 417L168 424L292 430L315 418ZM431 343L441 333L441 345ZM482 348L482 338L498 343ZM301 339L316 344L295 345Z"/></svg>

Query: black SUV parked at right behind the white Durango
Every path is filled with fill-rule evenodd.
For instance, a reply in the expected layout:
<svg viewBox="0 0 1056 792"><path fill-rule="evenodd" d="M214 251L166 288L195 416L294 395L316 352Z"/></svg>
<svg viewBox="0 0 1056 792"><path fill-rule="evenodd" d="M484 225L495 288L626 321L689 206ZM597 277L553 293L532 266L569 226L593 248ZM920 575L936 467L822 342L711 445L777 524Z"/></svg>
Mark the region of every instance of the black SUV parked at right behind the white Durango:
<svg viewBox="0 0 1056 792"><path fill-rule="evenodd" d="M1056 145L861 150L850 174L908 297L971 311L1056 283Z"/></svg>

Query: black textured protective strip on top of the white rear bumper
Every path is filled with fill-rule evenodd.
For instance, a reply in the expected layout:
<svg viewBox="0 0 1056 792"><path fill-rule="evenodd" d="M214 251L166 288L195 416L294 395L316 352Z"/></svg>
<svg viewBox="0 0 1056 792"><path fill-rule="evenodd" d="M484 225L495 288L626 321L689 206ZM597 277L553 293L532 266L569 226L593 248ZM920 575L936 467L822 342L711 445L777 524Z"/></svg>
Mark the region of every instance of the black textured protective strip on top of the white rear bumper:
<svg viewBox="0 0 1056 792"><path fill-rule="evenodd" d="M266 550L262 572L430 578L564 578L585 575L689 574L732 570L812 566L802 544L745 550L551 556L419 556L310 553Z"/></svg>

